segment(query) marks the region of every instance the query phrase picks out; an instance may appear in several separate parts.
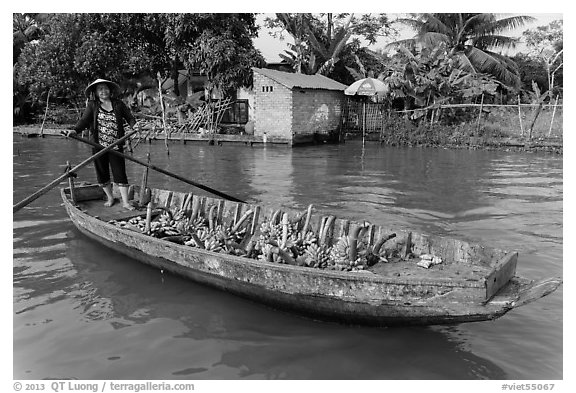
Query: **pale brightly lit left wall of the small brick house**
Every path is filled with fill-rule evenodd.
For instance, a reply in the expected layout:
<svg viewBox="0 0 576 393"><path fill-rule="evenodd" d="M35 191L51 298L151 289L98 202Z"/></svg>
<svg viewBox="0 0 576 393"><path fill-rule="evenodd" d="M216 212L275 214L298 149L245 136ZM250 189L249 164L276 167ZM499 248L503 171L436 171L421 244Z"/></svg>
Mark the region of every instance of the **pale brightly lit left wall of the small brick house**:
<svg viewBox="0 0 576 393"><path fill-rule="evenodd" d="M254 135L292 142L292 91L254 72Z"/></svg>

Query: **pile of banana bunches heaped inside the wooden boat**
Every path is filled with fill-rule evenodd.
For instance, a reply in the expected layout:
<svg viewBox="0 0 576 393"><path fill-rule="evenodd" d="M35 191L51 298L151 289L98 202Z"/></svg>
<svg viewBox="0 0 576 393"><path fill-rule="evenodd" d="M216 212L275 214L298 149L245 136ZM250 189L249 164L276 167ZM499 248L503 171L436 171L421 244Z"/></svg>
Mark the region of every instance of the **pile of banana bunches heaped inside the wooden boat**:
<svg viewBox="0 0 576 393"><path fill-rule="evenodd" d="M356 240L356 233L354 236L340 237L330 245L322 229L320 232L324 234L319 235L312 230L299 228L303 216L290 221L286 214L280 218L277 212L260 224L255 235L246 236L250 214L250 211L247 212L233 227L216 223L211 218L212 209L207 213L208 218L201 215L191 218L181 209L174 212L164 209L148 224L146 218L141 216L109 223L207 251L316 269L358 272L365 271L375 263L387 262L386 250L380 250L387 239L381 239L378 245L370 247ZM304 227L308 227L308 219L306 221Z"/></svg>

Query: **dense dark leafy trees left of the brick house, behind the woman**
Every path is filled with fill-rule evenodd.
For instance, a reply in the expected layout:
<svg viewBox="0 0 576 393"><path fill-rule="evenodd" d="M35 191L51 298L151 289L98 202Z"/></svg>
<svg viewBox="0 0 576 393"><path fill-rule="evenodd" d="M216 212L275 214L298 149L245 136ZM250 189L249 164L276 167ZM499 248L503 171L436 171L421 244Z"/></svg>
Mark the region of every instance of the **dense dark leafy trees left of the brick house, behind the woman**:
<svg viewBox="0 0 576 393"><path fill-rule="evenodd" d="M181 68L230 91L263 60L252 44L253 14L14 14L13 25L14 90L33 102L48 91L54 99L82 97L97 77L134 93L157 86L158 73L176 79Z"/></svg>

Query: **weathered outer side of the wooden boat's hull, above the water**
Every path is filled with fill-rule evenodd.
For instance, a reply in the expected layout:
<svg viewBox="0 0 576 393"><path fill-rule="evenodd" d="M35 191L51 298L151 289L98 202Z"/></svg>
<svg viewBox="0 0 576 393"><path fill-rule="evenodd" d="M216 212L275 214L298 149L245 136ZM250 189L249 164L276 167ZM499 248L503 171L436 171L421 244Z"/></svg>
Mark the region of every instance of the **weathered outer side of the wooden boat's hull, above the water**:
<svg viewBox="0 0 576 393"><path fill-rule="evenodd" d="M251 260L174 244L116 227L86 214L62 191L64 206L80 232L139 262L274 309L313 319L371 326L434 325L484 321L522 304L535 283L513 278L489 301L482 283L411 281L371 273L322 271ZM553 291L549 284L539 297ZM532 296L535 297L535 296Z"/></svg>

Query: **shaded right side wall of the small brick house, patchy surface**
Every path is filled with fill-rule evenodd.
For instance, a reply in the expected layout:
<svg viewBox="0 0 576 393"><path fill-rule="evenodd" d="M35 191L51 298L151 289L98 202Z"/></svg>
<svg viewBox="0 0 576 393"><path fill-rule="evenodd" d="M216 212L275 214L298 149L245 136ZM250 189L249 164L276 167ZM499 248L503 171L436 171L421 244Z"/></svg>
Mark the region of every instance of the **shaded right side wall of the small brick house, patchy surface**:
<svg viewBox="0 0 576 393"><path fill-rule="evenodd" d="M338 129L343 92L295 88L292 94L292 132L295 137L327 134Z"/></svg>

